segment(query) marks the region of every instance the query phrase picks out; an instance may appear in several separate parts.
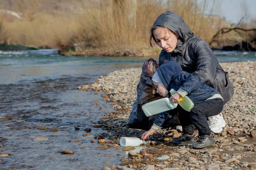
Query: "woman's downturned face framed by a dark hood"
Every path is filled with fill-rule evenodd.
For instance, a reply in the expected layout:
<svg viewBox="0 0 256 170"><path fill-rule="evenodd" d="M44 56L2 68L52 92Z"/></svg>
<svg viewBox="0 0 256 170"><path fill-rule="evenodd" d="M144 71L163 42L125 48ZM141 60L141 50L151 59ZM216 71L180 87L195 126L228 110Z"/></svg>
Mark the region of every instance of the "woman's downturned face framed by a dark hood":
<svg viewBox="0 0 256 170"><path fill-rule="evenodd" d="M168 28L164 27L155 28L154 37L157 45L163 48L167 53L171 53L176 48L179 36L167 29Z"/></svg>

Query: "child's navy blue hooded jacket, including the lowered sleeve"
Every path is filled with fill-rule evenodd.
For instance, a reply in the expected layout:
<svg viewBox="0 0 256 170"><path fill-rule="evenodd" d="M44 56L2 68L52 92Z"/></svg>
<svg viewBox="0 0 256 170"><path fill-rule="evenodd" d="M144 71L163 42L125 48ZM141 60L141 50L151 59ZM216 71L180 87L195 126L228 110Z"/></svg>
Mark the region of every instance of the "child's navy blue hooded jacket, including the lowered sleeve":
<svg viewBox="0 0 256 170"><path fill-rule="evenodd" d="M172 88L175 91L179 89L186 91L186 96L192 100L194 105L204 102L214 94L220 94L214 88L205 85L197 75L182 71L182 68L177 62L169 61L160 65L157 68L157 73L168 91ZM160 113L154 124L163 127L168 117L168 113Z"/></svg>

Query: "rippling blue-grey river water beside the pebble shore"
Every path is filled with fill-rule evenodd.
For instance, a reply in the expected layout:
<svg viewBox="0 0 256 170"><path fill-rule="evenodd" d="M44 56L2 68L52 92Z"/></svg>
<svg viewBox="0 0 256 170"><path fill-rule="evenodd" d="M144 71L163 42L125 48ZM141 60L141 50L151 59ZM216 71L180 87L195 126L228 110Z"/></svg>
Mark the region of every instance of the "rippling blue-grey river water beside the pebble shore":
<svg viewBox="0 0 256 170"><path fill-rule="evenodd" d="M255 52L215 53L220 62L256 61ZM0 155L9 155L0 157L0 169L100 170L119 165L126 152L101 150L97 142L91 143L94 136L108 132L92 128L91 136L82 136L83 129L114 110L102 101L102 92L77 87L114 70L140 67L145 60L67 57L57 50L0 51ZM52 128L59 131L49 131ZM49 140L35 141L39 136ZM71 142L78 139L81 141ZM62 150L75 154L61 155Z"/></svg>

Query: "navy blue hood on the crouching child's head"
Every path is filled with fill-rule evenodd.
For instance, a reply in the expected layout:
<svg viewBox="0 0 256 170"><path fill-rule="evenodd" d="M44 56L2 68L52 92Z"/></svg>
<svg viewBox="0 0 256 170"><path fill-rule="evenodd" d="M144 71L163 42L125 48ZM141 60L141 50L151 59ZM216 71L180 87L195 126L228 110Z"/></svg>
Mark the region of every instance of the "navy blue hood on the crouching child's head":
<svg viewBox="0 0 256 170"><path fill-rule="evenodd" d="M169 61L157 68L157 73L168 91L171 90L171 82L180 74L182 68L175 61Z"/></svg>

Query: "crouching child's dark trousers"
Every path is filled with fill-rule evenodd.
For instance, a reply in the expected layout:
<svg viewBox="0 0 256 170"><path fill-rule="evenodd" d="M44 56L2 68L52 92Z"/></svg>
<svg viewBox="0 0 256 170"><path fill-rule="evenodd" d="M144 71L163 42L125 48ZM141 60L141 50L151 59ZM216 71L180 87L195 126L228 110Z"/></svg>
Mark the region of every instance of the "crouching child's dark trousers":
<svg viewBox="0 0 256 170"><path fill-rule="evenodd" d="M207 118L221 113L223 105L223 100L216 98L195 105L190 112L178 107L177 109L179 110L178 113L180 125L182 126L183 133L194 133L195 129L193 125L195 125L199 132L199 136L211 134L211 129L207 123Z"/></svg>

